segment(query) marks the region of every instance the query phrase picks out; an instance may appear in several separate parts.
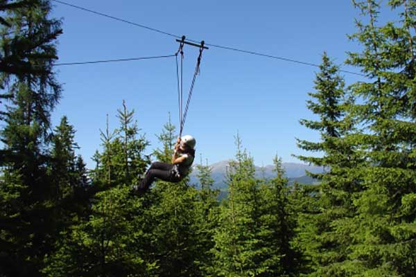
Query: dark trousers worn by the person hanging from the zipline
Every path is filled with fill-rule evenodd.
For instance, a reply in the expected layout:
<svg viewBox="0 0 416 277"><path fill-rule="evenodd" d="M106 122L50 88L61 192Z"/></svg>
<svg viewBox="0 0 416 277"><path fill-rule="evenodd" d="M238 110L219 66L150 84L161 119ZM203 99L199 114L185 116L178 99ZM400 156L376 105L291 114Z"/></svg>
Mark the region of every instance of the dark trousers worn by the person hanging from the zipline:
<svg viewBox="0 0 416 277"><path fill-rule="evenodd" d="M172 183L177 183L181 180L181 178L177 177L173 172L173 164L155 161L146 172L144 179L141 180L139 189L142 192L148 190L153 181L155 181L155 178L163 181L170 181Z"/></svg>

